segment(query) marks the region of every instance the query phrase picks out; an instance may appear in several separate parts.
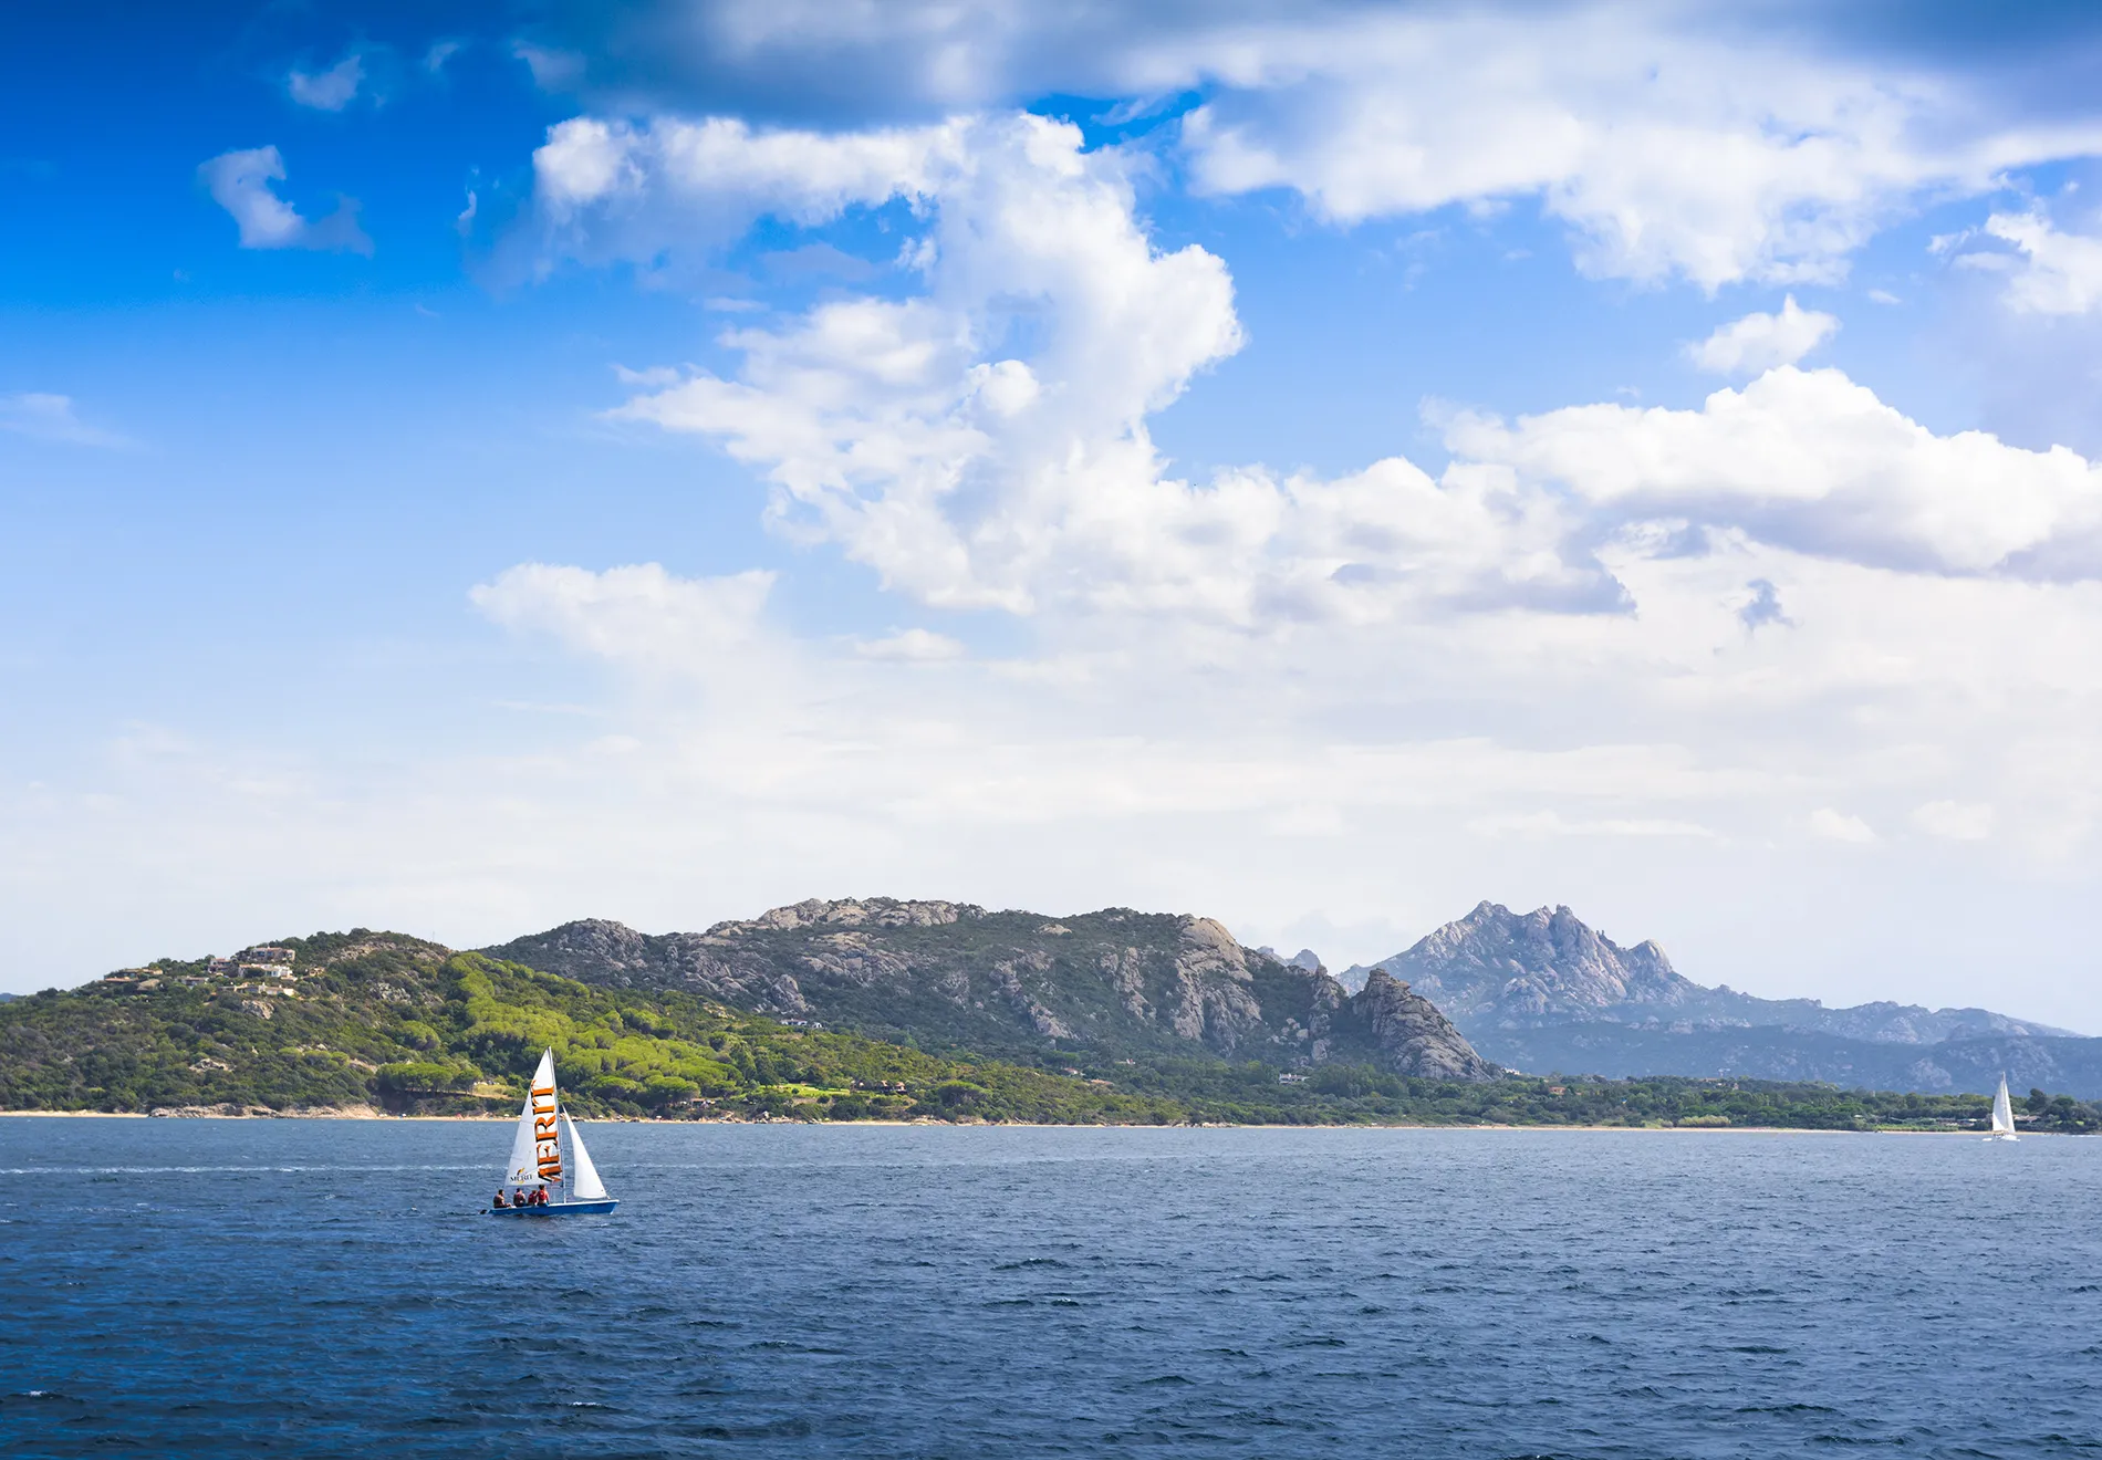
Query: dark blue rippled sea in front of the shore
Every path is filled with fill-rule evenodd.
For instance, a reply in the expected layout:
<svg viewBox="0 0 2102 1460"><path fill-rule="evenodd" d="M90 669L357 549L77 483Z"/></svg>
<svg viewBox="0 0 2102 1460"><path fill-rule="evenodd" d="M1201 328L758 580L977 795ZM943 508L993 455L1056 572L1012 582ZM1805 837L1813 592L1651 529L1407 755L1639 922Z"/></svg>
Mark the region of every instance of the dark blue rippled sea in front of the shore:
<svg viewBox="0 0 2102 1460"><path fill-rule="evenodd" d="M2102 1454L2102 1139L0 1118L0 1454Z"/></svg>

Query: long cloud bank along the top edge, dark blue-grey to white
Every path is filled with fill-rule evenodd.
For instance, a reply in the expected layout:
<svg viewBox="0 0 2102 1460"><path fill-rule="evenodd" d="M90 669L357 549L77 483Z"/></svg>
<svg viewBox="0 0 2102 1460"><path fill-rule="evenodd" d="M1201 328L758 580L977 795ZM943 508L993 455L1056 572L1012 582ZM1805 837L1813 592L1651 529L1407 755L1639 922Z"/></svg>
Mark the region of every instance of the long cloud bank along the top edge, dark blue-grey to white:
<svg viewBox="0 0 2102 1460"><path fill-rule="evenodd" d="M1873 27L1869 27L1873 29ZM1835 34L1837 32L1837 34ZM1833 281L1925 197L2094 155L2102 126L2028 116L2020 80L1862 48L1829 6L1291 4L570 11L542 84L633 109L723 107L866 128L1116 99L1179 122L1200 189L1291 189L1337 223L1537 202L1595 275Z"/></svg>

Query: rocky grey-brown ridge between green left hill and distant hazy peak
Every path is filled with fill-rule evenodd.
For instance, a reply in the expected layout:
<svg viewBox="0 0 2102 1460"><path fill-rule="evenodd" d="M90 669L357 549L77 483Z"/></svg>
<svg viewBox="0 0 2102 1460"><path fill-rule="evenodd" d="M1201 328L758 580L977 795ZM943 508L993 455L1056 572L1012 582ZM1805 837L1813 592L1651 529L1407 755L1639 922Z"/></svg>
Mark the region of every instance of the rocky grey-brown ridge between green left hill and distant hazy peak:
<svg viewBox="0 0 2102 1460"><path fill-rule="evenodd" d="M580 983L683 989L923 1048L1253 1059L1284 1071L1371 1063L1436 1080L1497 1073L1404 981L1381 975L1349 994L1318 960L1307 968L1242 947L1213 918L1129 908L1047 918L811 899L704 933L584 920L486 952Z"/></svg>

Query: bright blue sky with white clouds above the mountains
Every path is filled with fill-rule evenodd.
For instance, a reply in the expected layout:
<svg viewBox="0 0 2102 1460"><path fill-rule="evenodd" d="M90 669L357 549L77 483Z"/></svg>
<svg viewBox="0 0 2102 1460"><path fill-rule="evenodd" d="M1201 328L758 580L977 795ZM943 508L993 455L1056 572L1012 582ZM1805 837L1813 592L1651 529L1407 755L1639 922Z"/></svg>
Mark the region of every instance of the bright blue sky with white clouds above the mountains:
<svg viewBox="0 0 2102 1460"><path fill-rule="evenodd" d="M1492 899L2102 1034L2089 6L42 11L0 989Z"/></svg>

